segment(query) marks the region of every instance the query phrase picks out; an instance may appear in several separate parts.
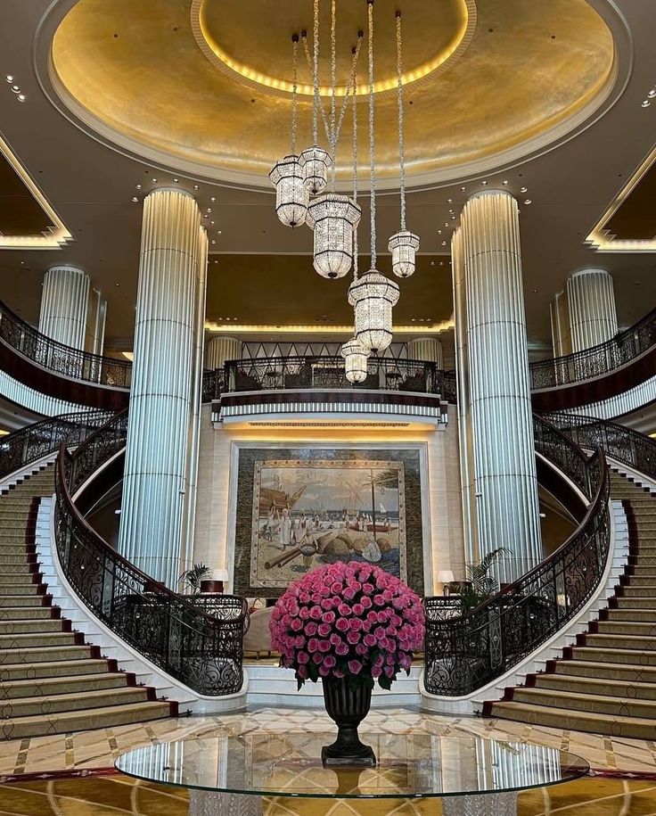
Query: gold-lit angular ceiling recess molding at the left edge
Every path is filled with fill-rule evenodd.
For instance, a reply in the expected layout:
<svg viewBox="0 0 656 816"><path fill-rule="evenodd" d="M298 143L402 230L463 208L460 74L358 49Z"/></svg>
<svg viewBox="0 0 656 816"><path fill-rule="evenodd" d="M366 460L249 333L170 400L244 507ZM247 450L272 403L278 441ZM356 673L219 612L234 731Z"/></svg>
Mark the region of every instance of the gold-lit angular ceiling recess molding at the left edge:
<svg viewBox="0 0 656 816"><path fill-rule="evenodd" d="M16 174L18 179L17 189L21 191L21 195L29 195L33 202L37 204L36 208L31 208L31 216L34 218L33 231L21 228L20 234L16 234L15 229L13 234L5 235L9 230L3 225L3 207L2 196L0 196L0 249L8 250L57 250L69 243L72 240L72 235L69 229L63 223L61 218L55 212L53 206L45 198L45 195L39 190L37 184L29 176L27 169L25 169L18 157L12 152L9 144L0 136L0 157L4 157L12 171ZM22 192L24 191L24 193ZM6 192L6 191L4 191ZM10 194L11 197L11 194ZM29 209L29 208L28 208ZM41 214L45 218L41 218ZM38 223L37 223L38 222ZM45 229L43 228L45 227ZM31 232L31 234L29 234Z"/></svg>

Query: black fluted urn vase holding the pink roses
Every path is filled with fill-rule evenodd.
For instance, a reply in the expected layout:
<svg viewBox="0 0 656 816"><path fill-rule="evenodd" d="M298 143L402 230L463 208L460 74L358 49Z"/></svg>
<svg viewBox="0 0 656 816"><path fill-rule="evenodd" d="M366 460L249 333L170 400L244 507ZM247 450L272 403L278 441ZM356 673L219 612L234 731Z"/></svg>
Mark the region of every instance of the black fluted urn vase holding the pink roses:
<svg viewBox="0 0 656 816"><path fill-rule="evenodd" d="M358 725L372 705L371 684L348 677L324 677L325 710L337 723L337 739L321 749L324 767L373 768L376 757L370 746L360 742Z"/></svg>

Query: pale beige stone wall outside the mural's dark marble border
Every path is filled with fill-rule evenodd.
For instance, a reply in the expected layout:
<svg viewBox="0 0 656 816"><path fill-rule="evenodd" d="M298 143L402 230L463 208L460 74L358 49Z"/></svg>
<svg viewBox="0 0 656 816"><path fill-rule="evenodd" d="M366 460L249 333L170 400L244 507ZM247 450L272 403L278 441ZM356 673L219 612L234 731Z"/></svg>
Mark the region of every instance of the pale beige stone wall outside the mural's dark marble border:
<svg viewBox="0 0 656 816"><path fill-rule="evenodd" d="M230 430L229 426L216 429L211 424L209 406L203 407L201 419L201 452L198 474L198 502L196 508L193 562L202 562L210 569L226 568L232 573L234 519L231 519L231 466L236 462L235 448L240 442L300 443L314 441L343 445L345 441L403 447L419 443L425 449L425 469L422 471L422 495L428 498L428 512L424 515L424 583L426 594L437 589L438 570L453 570L455 578L463 577L463 514L460 496L458 433L455 411L450 412L446 431L416 431L360 433L290 431L280 433ZM232 586L228 587L232 590Z"/></svg>

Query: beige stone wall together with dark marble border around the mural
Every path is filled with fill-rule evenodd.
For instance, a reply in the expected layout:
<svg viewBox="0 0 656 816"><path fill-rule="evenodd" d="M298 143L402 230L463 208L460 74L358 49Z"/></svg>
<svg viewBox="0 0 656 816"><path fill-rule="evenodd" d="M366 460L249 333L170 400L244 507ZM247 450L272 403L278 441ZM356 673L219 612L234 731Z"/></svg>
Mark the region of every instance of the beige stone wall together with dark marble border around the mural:
<svg viewBox="0 0 656 816"><path fill-rule="evenodd" d="M284 451L305 449L315 458L394 459L403 457L406 472L406 540L411 585L426 595L439 591L439 570L452 570L463 578L463 512L460 493L458 431L455 411L450 412L445 431L399 434L394 441L360 441L354 432L353 447L322 439L316 442L253 441L228 426L211 424L209 406L203 407L196 510L194 563L210 569L226 568L234 583L228 591L262 597L262 589L250 590L250 532L254 463L264 458L282 458ZM350 451L350 453L349 453ZM397 452L395 454L395 451ZM237 464L239 463L239 464ZM231 467L235 473L231 474ZM248 471L248 472L247 472ZM232 493L235 495L231 496ZM275 590L271 597L275 597ZM250 593L250 594L249 594Z"/></svg>

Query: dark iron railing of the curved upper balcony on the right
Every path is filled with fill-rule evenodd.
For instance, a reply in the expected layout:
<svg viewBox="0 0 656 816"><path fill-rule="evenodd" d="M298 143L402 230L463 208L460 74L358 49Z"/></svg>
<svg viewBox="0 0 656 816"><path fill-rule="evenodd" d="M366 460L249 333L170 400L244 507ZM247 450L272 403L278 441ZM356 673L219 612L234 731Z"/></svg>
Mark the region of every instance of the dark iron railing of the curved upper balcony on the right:
<svg viewBox="0 0 656 816"><path fill-rule="evenodd" d="M656 344L656 309L624 332L590 349L531 363L532 391L582 383L626 366Z"/></svg>

